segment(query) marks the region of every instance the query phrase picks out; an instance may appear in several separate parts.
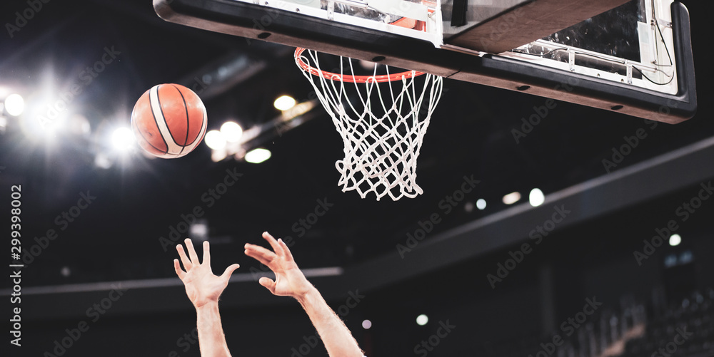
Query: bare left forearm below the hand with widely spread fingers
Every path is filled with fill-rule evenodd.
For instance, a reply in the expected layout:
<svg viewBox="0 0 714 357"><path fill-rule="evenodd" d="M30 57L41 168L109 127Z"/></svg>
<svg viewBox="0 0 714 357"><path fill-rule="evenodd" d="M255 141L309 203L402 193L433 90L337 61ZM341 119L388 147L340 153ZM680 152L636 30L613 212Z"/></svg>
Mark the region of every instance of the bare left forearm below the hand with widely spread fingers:
<svg viewBox="0 0 714 357"><path fill-rule="evenodd" d="M201 357L230 357L226 336L223 335L218 302L196 308L196 328Z"/></svg>

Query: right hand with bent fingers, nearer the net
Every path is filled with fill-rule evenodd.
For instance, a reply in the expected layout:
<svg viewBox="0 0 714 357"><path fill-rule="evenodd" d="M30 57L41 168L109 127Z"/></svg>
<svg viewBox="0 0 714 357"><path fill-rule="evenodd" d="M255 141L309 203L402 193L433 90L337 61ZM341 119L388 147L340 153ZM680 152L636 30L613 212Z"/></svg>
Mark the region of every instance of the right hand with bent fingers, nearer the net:
<svg viewBox="0 0 714 357"><path fill-rule="evenodd" d="M275 273L275 281L263 277L259 281L261 285L278 296L296 297L305 294L312 285L293 260L290 249L282 240L276 241L268 232L263 233L263 238L271 244L275 252L257 245L246 244L246 254Z"/></svg>

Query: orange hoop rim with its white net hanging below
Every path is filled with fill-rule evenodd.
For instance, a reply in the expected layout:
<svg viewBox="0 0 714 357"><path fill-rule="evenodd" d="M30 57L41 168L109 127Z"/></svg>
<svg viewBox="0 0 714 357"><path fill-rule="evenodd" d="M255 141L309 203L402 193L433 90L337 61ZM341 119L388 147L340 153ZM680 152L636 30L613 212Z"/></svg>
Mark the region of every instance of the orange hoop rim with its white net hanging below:
<svg viewBox="0 0 714 357"><path fill-rule="evenodd" d="M296 63L343 138L345 158L336 162L338 185L362 198L374 192L377 200L421 195L416 161L441 99L443 78L416 71L390 73L388 66L378 65L371 75L356 76L355 67L361 64L353 62L340 57L338 70L326 72L315 51L296 52ZM378 74L378 68L386 74Z"/></svg>

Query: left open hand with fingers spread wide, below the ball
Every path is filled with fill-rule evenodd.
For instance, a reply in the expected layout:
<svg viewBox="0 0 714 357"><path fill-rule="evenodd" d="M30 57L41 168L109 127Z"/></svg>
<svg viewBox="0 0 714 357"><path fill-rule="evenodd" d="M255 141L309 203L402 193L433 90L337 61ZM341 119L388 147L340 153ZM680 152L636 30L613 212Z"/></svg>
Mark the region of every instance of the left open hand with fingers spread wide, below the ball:
<svg viewBox="0 0 714 357"><path fill-rule="evenodd" d="M193 306L200 307L208 304L211 301L218 301L218 297L223 293L223 289L228 286L228 279L234 270L238 269L238 264L233 264L226 268L226 271L221 276L216 276L211 271L211 255L208 252L208 242L203 243L203 262L198 262L198 256L193 250L191 239L186 239L186 249L188 257L183 252L183 247L178 245L178 255L181 257L184 272L178 265L178 260L174 260L174 268L176 274L183 281L186 287L186 295L191 300Z"/></svg>

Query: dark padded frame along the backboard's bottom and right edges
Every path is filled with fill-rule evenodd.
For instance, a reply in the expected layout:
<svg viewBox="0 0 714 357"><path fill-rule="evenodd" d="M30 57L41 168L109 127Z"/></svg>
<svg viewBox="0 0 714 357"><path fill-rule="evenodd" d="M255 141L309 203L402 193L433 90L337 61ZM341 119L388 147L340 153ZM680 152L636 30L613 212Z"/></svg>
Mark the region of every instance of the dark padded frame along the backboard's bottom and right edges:
<svg viewBox="0 0 714 357"><path fill-rule="evenodd" d="M166 21L241 36L247 41L311 48L664 123L680 123L692 118L697 110L690 19L688 10L679 2L671 6L675 40L672 50L678 73L678 90L674 94L491 53L447 51L430 41L399 33L242 1L154 0L154 9Z"/></svg>

